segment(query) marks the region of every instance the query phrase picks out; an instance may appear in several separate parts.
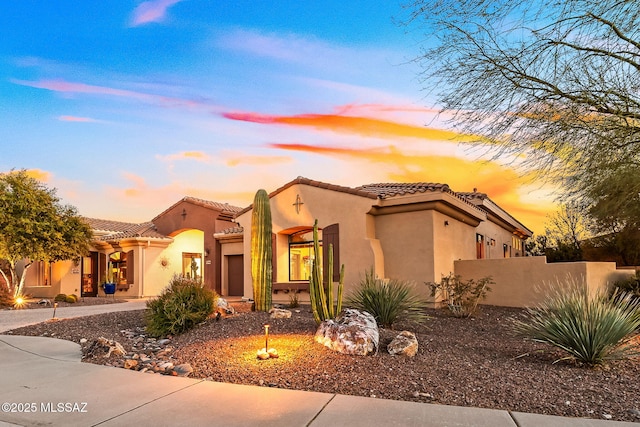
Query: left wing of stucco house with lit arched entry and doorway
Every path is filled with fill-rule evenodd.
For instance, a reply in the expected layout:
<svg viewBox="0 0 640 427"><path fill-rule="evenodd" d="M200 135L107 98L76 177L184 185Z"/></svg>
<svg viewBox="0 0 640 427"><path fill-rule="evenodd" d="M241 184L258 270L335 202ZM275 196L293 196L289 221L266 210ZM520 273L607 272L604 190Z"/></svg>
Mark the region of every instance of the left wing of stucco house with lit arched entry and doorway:
<svg viewBox="0 0 640 427"><path fill-rule="evenodd" d="M110 276L117 297L156 296L174 274L202 279L220 292L220 245L213 236L235 225L233 216L240 210L184 197L141 224L85 218L94 231L89 254L74 261L37 262L27 270L25 293L104 295L100 285Z"/></svg>

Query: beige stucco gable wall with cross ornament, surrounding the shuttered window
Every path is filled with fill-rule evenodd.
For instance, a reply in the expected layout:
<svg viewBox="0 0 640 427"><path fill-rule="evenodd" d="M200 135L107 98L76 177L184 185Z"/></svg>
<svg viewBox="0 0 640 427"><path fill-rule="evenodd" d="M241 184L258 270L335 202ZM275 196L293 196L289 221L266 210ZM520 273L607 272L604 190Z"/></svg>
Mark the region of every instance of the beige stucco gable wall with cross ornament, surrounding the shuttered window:
<svg viewBox="0 0 640 427"><path fill-rule="evenodd" d="M293 205L296 196L302 201L300 212L296 212ZM375 253L377 241L371 239L374 224L368 220L367 212L371 209L373 199L313 187L309 185L292 185L273 196L270 200L272 229L277 236L277 281L287 282L289 275L288 238L286 234L294 227L313 227L318 219L320 228L331 224L340 224L340 263L345 265L345 294L359 282L367 268L377 265L381 269L383 264L376 262ZM253 295L251 284L251 213L248 211L237 218L244 228L244 295ZM368 237L369 236L369 237ZM377 271L384 277L384 271ZM308 298L301 295L301 300ZM274 295L274 300L288 299L284 294Z"/></svg>

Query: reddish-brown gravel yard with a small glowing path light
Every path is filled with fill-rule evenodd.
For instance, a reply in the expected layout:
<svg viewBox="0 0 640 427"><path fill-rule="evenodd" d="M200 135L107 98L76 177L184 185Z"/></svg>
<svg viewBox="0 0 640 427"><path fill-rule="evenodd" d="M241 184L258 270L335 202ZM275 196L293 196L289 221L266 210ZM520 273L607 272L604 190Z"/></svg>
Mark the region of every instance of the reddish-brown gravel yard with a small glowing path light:
<svg viewBox="0 0 640 427"><path fill-rule="evenodd" d="M510 319L522 316L520 309L484 306L472 319L427 310L430 319L423 325L401 323L394 330L381 329L380 351L363 357L338 354L315 343L316 326L308 306L295 309L291 319L276 320L251 312L248 304L232 305L235 315L212 318L169 337L162 358L175 365L189 363L191 377L213 381L640 422L640 359L597 369L558 361L563 354L512 335ZM280 357L259 361L256 351L264 347L265 323L271 324L269 347ZM107 359L90 352L90 344L104 336L120 342L130 352L127 358L137 358L143 325L140 310L47 322L10 333L75 342L85 338L86 362L121 366L115 356ZM386 351L401 330L418 338L420 347L413 358Z"/></svg>

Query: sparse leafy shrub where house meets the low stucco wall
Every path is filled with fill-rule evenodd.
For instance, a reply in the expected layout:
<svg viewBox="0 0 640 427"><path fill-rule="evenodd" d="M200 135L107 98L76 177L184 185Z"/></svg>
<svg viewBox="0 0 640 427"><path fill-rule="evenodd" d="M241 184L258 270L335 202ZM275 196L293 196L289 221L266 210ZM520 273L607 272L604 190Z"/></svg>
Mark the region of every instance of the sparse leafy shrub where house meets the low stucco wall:
<svg viewBox="0 0 640 427"><path fill-rule="evenodd" d="M431 288L431 296L441 293L443 301L447 303L447 307L456 317L471 317L478 309L480 301L487 297L487 293L491 292L489 285L493 285L491 277L483 277L480 280L469 279L462 280L460 275L449 273L448 276L442 276L440 283L427 282L426 285Z"/></svg>

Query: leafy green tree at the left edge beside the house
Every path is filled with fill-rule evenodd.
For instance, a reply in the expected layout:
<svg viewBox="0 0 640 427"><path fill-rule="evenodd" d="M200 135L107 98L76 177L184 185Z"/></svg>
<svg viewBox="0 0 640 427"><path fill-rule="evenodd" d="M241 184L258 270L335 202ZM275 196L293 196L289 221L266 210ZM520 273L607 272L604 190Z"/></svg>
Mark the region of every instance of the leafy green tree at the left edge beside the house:
<svg viewBox="0 0 640 427"><path fill-rule="evenodd" d="M63 205L56 190L25 170L0 173L0 274L9 292L22 294L34 261L77 258L88 250L92 232L76 208Z"/></svg>

